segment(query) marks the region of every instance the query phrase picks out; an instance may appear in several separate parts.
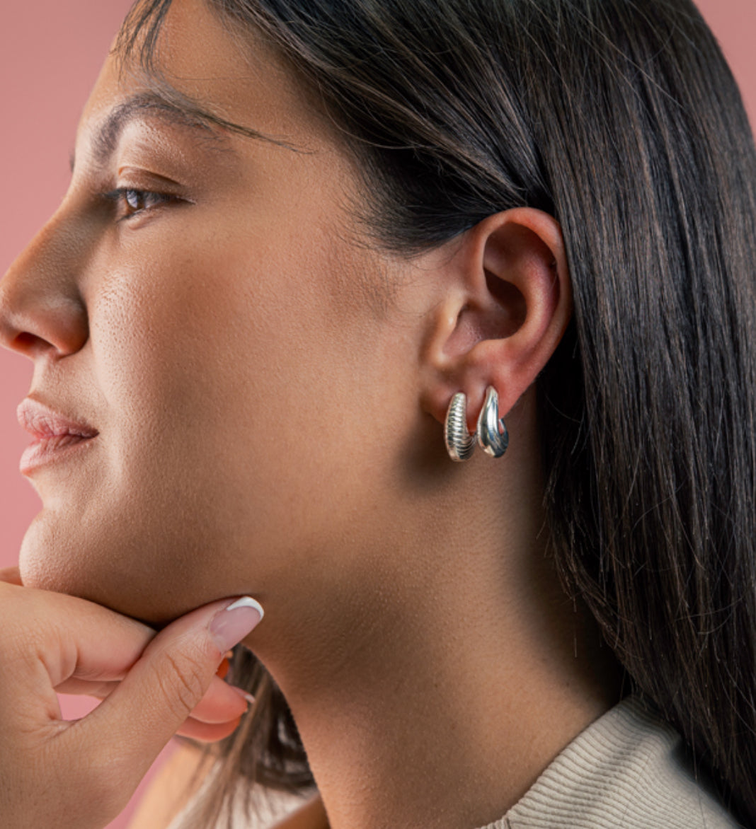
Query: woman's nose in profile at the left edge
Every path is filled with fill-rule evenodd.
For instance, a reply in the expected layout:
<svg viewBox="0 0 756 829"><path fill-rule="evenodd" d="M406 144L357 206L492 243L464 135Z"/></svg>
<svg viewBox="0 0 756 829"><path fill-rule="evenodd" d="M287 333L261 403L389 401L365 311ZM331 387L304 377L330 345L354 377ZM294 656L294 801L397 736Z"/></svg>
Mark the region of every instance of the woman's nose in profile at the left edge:
<svg viewBox="0 0 756 829"><path fill-rule="evenodd" d="M36 360L79 351L89 337L77 274L82 240L56 214L0 280L0 345Z"/></svg>

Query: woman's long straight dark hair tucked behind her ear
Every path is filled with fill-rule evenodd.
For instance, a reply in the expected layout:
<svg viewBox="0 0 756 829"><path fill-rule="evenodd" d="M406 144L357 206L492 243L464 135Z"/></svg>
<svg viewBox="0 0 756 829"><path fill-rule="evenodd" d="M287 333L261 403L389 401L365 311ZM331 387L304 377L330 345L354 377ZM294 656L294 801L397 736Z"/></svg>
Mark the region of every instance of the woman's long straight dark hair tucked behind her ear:
<svg viewBox="0 0 756 829"><path fill-rule="evenodd" d="M537 381L549 549L636 691L756 822L756 154L700 13L207 3L317 90L369 172L383 245L439 245L515 206L560 222L574 313ZM140 2L120 53L149 57L169 5ZM233 681L267 691L258 742L241 730L222 747L226 783L311 785L280 691L235 660Z"/></svg>

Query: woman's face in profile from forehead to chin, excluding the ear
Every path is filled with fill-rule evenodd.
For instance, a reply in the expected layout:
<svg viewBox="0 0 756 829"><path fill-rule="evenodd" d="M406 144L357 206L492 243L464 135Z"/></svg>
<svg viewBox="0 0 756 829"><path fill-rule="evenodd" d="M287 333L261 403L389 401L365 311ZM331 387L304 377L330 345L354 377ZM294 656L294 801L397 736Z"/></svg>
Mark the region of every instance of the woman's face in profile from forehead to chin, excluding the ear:
<svg viewBox="0 0 756 829"><path fill-rule="evenodd" d="M417 418L399 265L354 243L325 119L201 0L162 36L173 87L296 149L193 123L111 56L70 190L0 284L32 399L98 432L27 470L22 578L153 623L332 579L399 497Z"/></svg>

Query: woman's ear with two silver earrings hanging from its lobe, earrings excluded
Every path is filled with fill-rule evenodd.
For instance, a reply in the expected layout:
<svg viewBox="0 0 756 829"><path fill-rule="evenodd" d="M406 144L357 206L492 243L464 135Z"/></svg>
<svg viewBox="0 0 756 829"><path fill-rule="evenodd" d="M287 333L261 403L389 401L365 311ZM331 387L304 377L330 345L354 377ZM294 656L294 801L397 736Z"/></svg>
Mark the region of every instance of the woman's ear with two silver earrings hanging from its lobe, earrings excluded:
<svg viewBox="0 0 756 829"><path fill-rule="evenodd" d="M485 390L499 416L549 361L572 313L572 291L558 221L532 207L489 216L467 230L440 274L422 354L422 407L441 423L451 397L467 395L474 432Z"/></svg>

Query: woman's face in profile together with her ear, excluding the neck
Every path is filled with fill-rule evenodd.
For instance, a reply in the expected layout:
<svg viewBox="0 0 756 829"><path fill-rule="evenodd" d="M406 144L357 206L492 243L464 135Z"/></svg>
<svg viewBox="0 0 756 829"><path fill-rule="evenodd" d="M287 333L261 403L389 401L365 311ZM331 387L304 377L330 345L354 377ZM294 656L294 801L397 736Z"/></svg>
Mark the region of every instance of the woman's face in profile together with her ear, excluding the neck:
<svg viewBox="0 0 756 829"><path fill-rule="evenodd" d="M513 208L422 254L378 245L344 133L255 40L173 0L157 71L109 56L71 186L0 282L2 344L34 361L28 405L94 435L22 469L42 501L22 579L157 626L251 594L299 620L281 639L326 618L341 636L391 591L432 608L428 580L451 585L469 536L449 484L466 480L497 505L473 594L499 583L502 540L529 593L534 379L571 313L558 223ZM465 478L446 406L466 388L475 429L490 382L502 412L517 404L513 445Z"/></svg>

